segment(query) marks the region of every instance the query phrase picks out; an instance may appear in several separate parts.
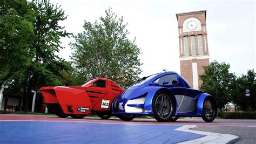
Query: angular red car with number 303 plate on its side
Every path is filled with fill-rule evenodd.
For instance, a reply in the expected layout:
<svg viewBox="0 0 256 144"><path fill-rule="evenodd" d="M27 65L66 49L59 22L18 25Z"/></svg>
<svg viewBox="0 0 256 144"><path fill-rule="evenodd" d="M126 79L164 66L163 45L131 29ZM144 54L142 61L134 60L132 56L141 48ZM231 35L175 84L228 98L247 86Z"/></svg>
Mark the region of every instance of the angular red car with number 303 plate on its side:
<svg viewBox="0 0 256 144"><path fill-rule="evenodd" d="M60 118L82 119L95 112L109 119L112 102L123 88L110 79L96 78L82 86L48 86L39 91L48 109Z"/></svg>

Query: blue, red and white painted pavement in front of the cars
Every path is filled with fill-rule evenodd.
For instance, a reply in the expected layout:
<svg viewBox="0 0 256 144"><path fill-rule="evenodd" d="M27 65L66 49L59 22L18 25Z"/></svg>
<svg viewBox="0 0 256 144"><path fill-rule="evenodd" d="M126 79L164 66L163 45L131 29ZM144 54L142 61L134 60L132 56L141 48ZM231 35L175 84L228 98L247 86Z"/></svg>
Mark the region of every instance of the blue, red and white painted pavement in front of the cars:
<svg viewBox="0 0 256 144"><path fill-rule="evenodd" d="M209 139L213 143L223 143L228 138L235 139L232 142L236 143L253 143L256 140L256 120L216 119L214 122L206 123L201 118L184 118L177 122L157 122L154 119L134 119L124 122L118 118L101 120L86 117L78 120L57 118L55 115L0 114L0 125L0 143L35 143L35 141L39 143L97 143L104 140L108 143L176 143L182 141L203 143ZM66 126L69 126L68 129ZM225 134L233 134L233 137ZM21 139L24 135L30 137ZM100 136L94 139L96 141L91 140L95 135ZM234 135L238 135L239 138L236 139ZM217 136L219 141L216 141L214 136Z"/></svg>

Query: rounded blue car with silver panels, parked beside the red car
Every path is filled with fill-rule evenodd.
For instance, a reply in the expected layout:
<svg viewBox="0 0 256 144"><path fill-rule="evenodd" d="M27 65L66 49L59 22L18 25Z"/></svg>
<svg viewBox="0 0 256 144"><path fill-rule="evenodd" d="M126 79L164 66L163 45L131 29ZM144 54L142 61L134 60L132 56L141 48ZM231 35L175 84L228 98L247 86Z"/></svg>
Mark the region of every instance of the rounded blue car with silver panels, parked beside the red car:
<svg viewBox="0 0 256 144"><path fill-rule="evenodd" d="M178 73L162 72L143 77L117 95L112 112L124 121L153 115L159 122L174 122L179 116L212 122L217 116L217 103L212 95L191 88Z"/></svg>

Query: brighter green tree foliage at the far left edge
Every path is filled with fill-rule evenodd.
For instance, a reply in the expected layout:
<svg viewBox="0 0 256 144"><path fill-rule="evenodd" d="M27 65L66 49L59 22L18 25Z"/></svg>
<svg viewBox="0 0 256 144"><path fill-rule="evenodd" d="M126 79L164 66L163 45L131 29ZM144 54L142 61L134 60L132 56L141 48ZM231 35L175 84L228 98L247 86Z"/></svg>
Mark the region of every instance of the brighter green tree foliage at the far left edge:
<svg viewBox="0 0 256 144"><path fill-rule="evenodd" d="M25 0L0 2L0 84L21 90L26 81L29 50L35 39L32 4Z"/></svg>

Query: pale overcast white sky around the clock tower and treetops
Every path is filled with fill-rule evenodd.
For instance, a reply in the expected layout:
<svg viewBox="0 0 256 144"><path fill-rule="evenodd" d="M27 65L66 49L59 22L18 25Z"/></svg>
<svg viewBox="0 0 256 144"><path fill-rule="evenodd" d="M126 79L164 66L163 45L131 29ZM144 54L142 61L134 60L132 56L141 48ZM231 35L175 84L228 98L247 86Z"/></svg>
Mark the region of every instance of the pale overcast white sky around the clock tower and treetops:
<svg viewBox="0 0 256 144"><path fill-rule="evenodd" d="M255 1L78 1L50 0L58 3L68 16L59 24L74 35L83 32L84 20L95 22L112 8L127 22L129 39L142 54L140 77L163 71L180 73L178 23L176 13L207 10L206 27L210 62L231 65L236 76L255 69ZM59 56L70 61L71 38L62 38Z"/></svg>

